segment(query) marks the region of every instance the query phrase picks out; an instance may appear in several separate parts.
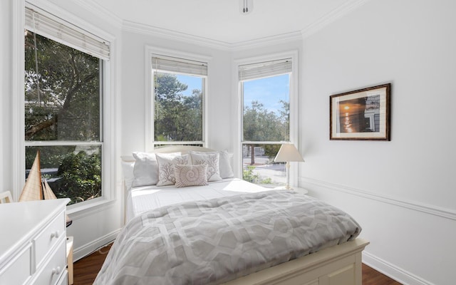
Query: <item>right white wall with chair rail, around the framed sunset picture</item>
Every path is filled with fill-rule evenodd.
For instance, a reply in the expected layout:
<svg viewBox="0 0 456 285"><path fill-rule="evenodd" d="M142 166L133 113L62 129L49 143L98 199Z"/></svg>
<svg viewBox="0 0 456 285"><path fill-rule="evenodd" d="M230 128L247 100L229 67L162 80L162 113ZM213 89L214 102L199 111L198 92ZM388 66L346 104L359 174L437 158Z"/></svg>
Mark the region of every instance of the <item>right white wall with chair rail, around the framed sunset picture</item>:
<svg viewBox="0 0 456 285"><path fill-rule="evenodd" d="M364 261L454 284L456 2L367 1L304 40L300 184L351 213ZM329 95L392 83L391 141L329 140Z"/></svg>

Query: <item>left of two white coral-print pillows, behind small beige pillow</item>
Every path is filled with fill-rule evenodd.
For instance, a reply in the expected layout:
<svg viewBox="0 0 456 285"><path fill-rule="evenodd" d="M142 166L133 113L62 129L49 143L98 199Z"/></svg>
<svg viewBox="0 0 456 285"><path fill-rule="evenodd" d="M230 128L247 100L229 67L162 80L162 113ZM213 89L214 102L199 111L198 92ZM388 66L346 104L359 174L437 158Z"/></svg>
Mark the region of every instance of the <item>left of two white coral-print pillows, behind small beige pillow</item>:
<svg viewBox="0 0 456 285"><path fill-rule="evenodd" d="M176 182L174 174L175 165L188 165L188 155L180 155L180 152L156 153L158 162L157 186L173 185Z"/></svg>

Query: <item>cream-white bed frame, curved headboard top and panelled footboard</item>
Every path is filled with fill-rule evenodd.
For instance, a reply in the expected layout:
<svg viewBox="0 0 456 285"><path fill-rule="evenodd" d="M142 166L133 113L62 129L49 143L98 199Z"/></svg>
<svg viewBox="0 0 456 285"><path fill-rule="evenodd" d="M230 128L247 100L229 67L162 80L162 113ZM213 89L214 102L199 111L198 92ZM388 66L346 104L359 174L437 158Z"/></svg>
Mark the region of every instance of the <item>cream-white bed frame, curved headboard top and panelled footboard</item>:
<svg viewBox="0 0 456 285"><path fill-rule="evenodd" d="M212 152L207 147L172 145L153 152L182 152L189 150ZM123 156L125 162L133 156ZM125 195L126 197L126 195ZM355 239L313 254L239 277L226 285L362 285L361 252L369 244L365 239Z"/></svg>

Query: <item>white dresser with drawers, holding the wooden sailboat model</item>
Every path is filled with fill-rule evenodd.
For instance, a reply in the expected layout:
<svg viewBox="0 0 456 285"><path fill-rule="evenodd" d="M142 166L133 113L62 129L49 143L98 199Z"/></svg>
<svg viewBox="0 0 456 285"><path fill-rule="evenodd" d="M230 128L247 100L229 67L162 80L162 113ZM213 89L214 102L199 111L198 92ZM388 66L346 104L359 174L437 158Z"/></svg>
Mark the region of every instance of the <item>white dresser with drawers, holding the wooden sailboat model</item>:
<svg viewBox="0 0 456 285"><path fill-rule="evenodd" d="M0 204L0 285L67 284L68 202Z"/></svg>

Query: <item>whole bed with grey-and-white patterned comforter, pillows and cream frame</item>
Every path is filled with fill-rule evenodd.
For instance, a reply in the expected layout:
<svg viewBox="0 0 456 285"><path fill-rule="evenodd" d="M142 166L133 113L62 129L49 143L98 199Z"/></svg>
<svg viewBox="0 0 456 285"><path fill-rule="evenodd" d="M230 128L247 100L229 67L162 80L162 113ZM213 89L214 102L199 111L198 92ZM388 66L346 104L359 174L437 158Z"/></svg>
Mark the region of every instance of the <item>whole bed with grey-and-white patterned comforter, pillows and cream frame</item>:
<svg viewBox="0 0 456 285"><path fill-rule="evenodd" d="M182 173L175 165L174 184L160 168L152 176L165 179L145 185L150 177L135 178L150 171L134 167L150 163L147 157L123 157L126 224L94 284L361 285L361 252L368 242L358 238L361 227L345 212L232 177L226 152L174 146L155 154L163 154L156 155L160 166L168 154L190 156L191 163L218 157L197 166L214 181L177 187ZM209 179L211 163L219 165L216 179Z"/></svg>

